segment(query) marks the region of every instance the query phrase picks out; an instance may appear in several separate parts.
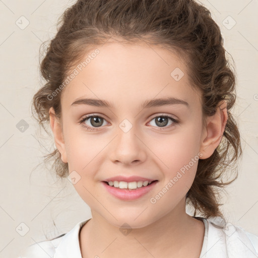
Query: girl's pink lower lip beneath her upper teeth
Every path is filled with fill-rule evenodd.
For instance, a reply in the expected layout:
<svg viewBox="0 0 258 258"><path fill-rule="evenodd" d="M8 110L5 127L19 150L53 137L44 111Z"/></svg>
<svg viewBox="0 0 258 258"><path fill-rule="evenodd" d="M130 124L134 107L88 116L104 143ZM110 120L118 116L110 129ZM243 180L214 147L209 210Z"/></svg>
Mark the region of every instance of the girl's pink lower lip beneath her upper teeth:
<svg viewBox="0 0 258 258"><path fill-rule="evenodd" d="M110 192L111 195L115 196L116 198L124 201L132 201L146 195L146 193L149 192L157 182L158 181L154 181L153 183L148 184L147 186L142 186L140 188L132 190L116 188L114 186L106 184L103 181L101 183L104 185L107 191Z"/></svg>

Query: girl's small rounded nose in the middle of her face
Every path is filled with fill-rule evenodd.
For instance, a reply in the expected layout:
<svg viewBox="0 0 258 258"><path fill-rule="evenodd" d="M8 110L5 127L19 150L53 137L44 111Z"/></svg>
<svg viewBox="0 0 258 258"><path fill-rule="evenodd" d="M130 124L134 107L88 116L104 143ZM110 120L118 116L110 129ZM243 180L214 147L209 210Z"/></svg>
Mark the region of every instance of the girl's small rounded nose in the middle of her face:
<svg viewBox="0 0 258 258"><path fill-rule="evenodd" d="M110 159L114 163L124 165L140 164L147 158L147 146L144 144L143 137L137 134L133 126L130 131L123 132L118 128L118 135L115 137Z"/></svg>

